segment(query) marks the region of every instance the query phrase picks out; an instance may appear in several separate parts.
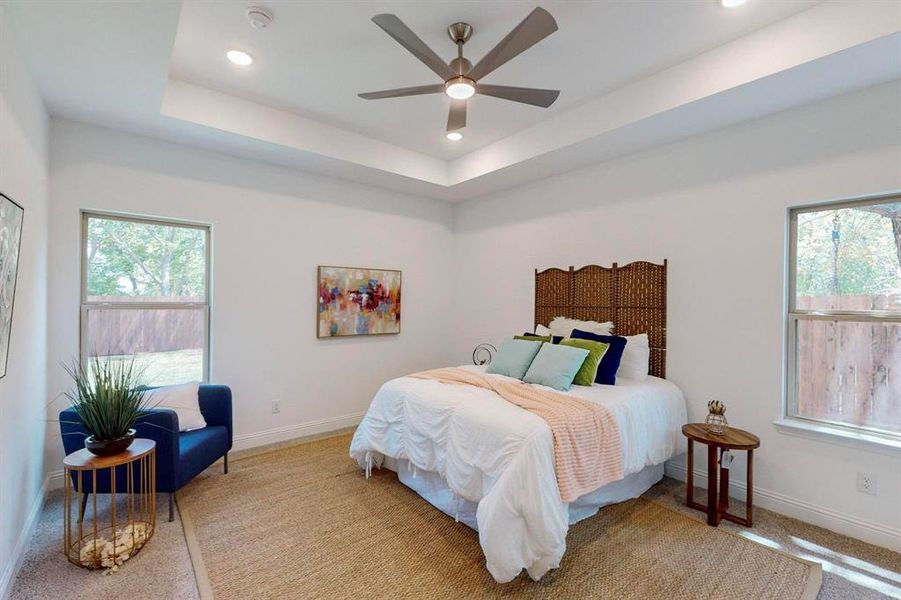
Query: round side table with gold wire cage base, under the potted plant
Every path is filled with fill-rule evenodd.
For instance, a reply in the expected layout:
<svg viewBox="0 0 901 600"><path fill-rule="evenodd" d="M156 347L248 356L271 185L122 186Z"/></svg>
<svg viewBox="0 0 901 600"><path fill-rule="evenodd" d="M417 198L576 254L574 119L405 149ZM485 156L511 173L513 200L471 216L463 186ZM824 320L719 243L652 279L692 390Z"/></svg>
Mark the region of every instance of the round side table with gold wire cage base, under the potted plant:
<svg viewBox="0 0 901 600"><path fill-rule="evenodd" d="M63 464L66 558L88 569L118 568L138 553L156 527L156 442L138 438L113 456L83 449L66 456ZM104 470L109 493L99 494L103 500L98 506L94 490ZM124 478L124 489L116 489L117 475ZM90 509L88 494L93 499Z"/></svg>

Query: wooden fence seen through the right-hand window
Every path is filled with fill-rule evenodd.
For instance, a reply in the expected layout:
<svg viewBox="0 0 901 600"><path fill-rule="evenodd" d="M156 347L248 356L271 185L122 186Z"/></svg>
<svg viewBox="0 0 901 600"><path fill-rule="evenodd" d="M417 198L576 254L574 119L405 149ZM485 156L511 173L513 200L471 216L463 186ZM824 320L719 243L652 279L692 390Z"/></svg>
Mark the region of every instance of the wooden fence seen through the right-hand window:
<svg viewBox="0 0 901 600"><path fill-rule="evenodd" d="M897 297L846 296L847 310L884 309ZM831 297L798 298L798 307L833 308ZM901 325L801 320L798 413L901 431Z"/></svg>

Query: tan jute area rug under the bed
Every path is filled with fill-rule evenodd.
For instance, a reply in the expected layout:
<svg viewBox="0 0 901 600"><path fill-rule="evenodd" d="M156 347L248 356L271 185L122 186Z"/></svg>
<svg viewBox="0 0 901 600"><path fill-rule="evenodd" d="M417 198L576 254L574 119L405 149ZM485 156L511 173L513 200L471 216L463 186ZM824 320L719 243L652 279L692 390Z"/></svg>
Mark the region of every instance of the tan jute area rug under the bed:
<svg viewBox="0 0 901 600"><path fill-rule="evenodd" d="M570 528L559 569L497 584L478 534L375 470L349 436L211 470L179 510L204 598L813 599L816 563L654 502L610 506Z"/></svg>

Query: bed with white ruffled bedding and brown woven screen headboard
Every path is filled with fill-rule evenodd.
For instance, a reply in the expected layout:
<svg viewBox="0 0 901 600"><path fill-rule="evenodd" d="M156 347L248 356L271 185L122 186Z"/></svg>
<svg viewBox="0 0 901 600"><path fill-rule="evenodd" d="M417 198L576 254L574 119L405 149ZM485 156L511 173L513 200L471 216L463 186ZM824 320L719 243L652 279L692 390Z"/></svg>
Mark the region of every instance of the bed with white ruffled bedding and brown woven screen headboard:
<svg viewBox="0 0 901 600"><path fill-rule="evenodd" d="M663 463L679 452L686 421L682 392L663 378L665 262L536 271L535 291L536 325L566 316L611 320L619 335L648 333L647 379L566 392L612 413L621 438L622 479L564 503L553 435L541 417L490 390L413 377L379 389L350 448L367 475L373 468L391 469L436 508L476 529L486 567L498 582L523 569L540 579L559 566L570 524L657 483Z"/></svg>

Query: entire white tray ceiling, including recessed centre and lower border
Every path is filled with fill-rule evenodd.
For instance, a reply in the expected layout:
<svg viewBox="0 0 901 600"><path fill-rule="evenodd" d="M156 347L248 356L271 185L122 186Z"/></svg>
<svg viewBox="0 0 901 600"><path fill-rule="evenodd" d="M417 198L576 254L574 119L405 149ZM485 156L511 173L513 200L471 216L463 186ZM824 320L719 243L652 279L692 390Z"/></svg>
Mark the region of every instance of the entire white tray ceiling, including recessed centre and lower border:
<svg viewBox="0 0 901 600"><path fill-rule="evenodd" d="M259 32L246 6L275 15ZM365 101L437 82L370 18L393 12L441 56L455 20L476 62L526 2L4 0L50 112L238 156L460 200L901 78L901 3L542 2L560 30L486 81L556 87L550 109L447 98ZM230 48L256 62L239 69Z"/></svg>

